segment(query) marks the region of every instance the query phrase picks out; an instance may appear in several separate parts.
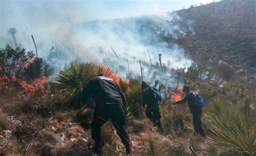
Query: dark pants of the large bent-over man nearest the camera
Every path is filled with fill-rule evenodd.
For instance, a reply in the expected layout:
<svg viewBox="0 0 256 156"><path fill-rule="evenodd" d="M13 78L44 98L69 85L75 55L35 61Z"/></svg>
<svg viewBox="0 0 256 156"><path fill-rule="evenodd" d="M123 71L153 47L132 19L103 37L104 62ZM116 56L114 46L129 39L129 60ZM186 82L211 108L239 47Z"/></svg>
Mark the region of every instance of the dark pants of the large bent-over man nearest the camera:
<svg viewBox="0 0 256 156"><path fill-rule="evenodd" d="M98 149L102 148L100 127L106 123L107 120L111 119L114 127L117 130L122 143L125 145L130 144L130 137L125 128L125 114L123 105L106 105L100 110L96 110L93 115L91 123L91 134L92 139L95 140L95 147Z"/></svg>

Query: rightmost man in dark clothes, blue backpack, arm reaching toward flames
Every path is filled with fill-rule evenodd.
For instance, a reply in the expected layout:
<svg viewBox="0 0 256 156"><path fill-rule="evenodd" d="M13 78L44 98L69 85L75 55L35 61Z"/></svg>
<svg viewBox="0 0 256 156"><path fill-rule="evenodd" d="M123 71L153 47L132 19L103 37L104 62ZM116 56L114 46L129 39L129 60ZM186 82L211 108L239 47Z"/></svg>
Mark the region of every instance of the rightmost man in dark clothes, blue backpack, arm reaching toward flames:
<svg viewBox="0 0 256 156"><path fill-rule="evenodd" d="M188 86L183 87L183 92L186 93L186 97L180 101L173 103L172 105L174 106L175 104L184 104L187 101L193 116L194 132L197 134L200 133L202 137L205 137L205 131L201 123L203 107L195 105L197 93L191 91L190 87Z"/></svg>

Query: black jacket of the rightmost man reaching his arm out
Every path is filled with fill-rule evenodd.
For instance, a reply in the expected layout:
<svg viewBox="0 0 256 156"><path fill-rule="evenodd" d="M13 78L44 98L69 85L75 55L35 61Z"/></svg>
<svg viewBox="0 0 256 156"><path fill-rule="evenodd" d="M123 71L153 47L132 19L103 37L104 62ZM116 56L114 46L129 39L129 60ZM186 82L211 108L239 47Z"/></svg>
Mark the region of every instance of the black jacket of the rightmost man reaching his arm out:
<svg viewBox="0 0 256 156"><path fill-rule="evenodd" d="M195 94L194 94L194 91L189 91L189 92L186 94L186 96L185 96L184 99L177 101L175 104L184 104L184 103L186 103L186 101L187 101L188 106L190 107L190 111L191 111L191 113L193 113L193 112L195 112L195 111L197 111L197 110L201 110L201 109L202 109L201 107L196 106L196 105L194 104L194 103L195 103L195 100L196 100L196 96L195 96Z"/></svg>

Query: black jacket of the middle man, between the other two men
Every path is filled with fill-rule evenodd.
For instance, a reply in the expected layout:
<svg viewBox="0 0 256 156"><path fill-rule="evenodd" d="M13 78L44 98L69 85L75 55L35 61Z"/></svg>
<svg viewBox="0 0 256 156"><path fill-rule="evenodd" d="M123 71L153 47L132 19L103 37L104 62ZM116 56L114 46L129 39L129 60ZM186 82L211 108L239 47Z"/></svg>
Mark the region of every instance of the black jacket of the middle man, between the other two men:
<svg viewBox="0 0 256 156"><path fill-rule="evenodd" d="M161 100L155 99L152 89L157 91L156 87L142 82L142 106L147 105L147 108L159 106Z"/></svg>

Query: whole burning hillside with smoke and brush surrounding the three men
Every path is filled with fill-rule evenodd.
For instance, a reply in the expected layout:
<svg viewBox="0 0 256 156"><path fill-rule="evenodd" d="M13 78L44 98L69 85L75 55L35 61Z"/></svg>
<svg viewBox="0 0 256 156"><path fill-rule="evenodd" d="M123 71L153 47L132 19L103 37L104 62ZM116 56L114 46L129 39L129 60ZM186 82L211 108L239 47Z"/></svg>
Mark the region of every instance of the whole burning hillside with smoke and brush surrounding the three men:
<svg viewBox="0 0 256 156"><path fill-rule="evenodd" d="M255 155L254 16L254 1L237 0L167 18L86 22L72 25L62 43L38 39L44 58L14 49L32 42L9 29L14 42L0 49L0 155L99 155L90 128L96 100L81 97L99 73L124 92L133 155ZM161 93L163 131L145 115L142 79ZM187 104L172 105L186 96L184 85L204 98L206 137L194 133ZM111 120L101 132L104 155L126 155Z"/></svg>

